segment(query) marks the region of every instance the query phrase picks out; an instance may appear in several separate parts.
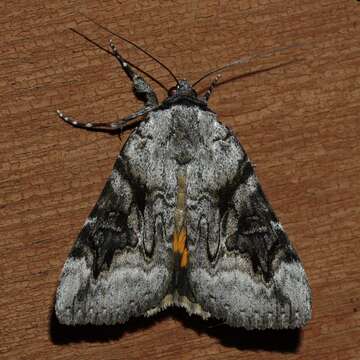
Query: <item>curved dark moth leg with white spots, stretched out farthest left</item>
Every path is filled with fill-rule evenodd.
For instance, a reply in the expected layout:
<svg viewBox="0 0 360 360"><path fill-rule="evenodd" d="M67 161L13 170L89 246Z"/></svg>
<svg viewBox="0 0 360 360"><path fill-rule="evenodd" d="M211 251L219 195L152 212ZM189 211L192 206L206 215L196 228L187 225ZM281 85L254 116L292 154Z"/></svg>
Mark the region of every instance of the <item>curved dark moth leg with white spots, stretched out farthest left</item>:
<svg viewBox="0 0 360 360"><path fill-rule="evenodd" d="M130 123L132 125L138 121L141 121L142 118L137 119L136 121L133 121L133 120L139 116L145 115L146 113L148 113L151 110L152 110L152 108L145 106L142 109L134 112L133 114L130 114L129 116L126 116L125 118L118 119L117 121L112 122L112 123L103 123L103 122L84 123L84 122L77 121L76 119L74 119L70 116L66 116L60 110L57 110L57 114L66 123L68 123L74 127L77 127L77 128L87 129L87 130L97 130L97 131L118 131L118 130L123 130L124 128L126 128L126 126L130 125Z"/></svg>

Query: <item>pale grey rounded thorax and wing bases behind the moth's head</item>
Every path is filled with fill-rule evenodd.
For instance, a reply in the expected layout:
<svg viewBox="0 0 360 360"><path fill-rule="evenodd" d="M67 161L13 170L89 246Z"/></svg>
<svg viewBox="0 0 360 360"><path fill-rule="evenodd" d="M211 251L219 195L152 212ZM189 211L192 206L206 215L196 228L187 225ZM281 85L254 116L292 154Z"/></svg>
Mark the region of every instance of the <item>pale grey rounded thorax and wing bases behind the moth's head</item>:
<svg viewBox="0 0 360 360"><path fill-rule="evenodd" d="M199 201L199 193L206 196L226 186L245 155L216 114L198 106L173 105L150 112L122 156L131 176L149 190L161 189L175 206L180 168L186 168L187 201Z"/></svg>

